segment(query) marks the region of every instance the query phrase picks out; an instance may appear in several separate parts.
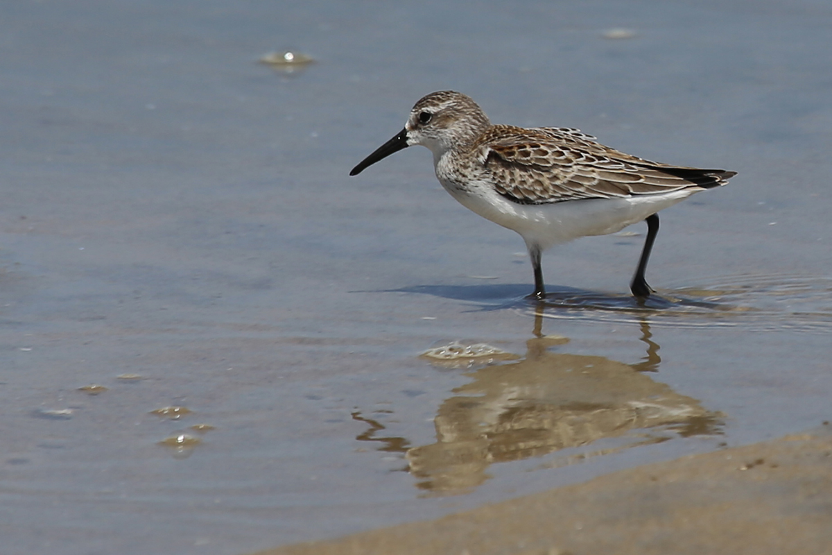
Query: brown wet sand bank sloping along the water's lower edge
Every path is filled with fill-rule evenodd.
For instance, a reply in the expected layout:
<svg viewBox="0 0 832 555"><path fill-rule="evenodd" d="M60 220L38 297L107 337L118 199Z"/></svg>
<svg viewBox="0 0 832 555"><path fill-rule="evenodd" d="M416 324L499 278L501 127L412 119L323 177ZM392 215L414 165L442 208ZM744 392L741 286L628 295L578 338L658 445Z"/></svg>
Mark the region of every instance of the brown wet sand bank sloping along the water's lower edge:
<svg viewBox="0 0 832 555"><path fill-rule="evenodd" d="M832 553L829 428L257 555Z"/></svg>

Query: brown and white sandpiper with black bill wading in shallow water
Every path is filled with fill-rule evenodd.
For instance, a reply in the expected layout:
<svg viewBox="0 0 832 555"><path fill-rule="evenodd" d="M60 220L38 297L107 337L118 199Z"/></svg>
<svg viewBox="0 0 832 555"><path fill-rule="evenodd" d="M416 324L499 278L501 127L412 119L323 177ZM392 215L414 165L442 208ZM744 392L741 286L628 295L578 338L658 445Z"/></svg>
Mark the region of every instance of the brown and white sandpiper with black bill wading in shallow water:
<svg viewBox="0 0 832 555"><path fill-rule="evenodd" d="M656 212L736 175L645 160L568 127L492 125L476 102L454 91L416 102L404 129L349 175L411 145L433 152L436 176L453 198L522 235L534 269L530 296L537 299L546 296L543 250L641 220L647 237L630 289L636 297L649 296L644 271L659 230Z"/></svg>

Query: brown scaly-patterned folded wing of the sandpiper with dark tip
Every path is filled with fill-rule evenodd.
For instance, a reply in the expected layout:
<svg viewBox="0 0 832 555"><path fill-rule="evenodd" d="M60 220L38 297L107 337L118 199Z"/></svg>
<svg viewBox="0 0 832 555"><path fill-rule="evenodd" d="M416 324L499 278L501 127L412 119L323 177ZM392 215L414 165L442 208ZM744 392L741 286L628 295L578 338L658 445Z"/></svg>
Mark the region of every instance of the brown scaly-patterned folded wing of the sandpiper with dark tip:
<svg viewBox="0 0 832 555"><path fill-rule="evenodd" d="M493 126L474 148L498 193L520 204L711 188L734 175L644 160L569 128Z"/></svg>

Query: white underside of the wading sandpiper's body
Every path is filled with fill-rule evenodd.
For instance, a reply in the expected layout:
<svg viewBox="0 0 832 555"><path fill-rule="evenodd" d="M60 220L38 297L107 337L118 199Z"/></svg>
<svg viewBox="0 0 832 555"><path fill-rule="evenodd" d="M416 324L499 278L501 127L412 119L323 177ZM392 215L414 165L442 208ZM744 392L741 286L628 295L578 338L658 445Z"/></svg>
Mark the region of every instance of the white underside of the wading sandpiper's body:
<svg viewBox="0 0 832 555"><path fill-rule="evenodd" d="M540 250L586 235L615 233L675 205L693 193L703 191L700 187L691 186L658 195L521 205L503 198L488 183L468 182L469 191L459 191L453 184L441 178L439 181L463 206L487 220L517 231L530 248L536 246Z"/></svg>

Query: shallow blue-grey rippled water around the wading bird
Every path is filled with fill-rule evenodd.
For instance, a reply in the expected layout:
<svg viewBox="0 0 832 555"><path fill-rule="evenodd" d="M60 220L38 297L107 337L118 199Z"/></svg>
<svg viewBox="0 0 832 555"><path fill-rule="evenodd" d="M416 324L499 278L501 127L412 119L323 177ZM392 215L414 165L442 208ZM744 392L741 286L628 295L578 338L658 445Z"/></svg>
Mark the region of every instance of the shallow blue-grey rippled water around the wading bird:
<svg viewBox="0 0 832 555"><path fill-rule="evenodd" d="M5 8L3 553L245 553L830 419L832 8L471 7ZM443 88L740 174L661 213L656 297L611 235L532 303L427 151L347 176Z"/></svg>

